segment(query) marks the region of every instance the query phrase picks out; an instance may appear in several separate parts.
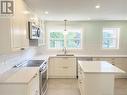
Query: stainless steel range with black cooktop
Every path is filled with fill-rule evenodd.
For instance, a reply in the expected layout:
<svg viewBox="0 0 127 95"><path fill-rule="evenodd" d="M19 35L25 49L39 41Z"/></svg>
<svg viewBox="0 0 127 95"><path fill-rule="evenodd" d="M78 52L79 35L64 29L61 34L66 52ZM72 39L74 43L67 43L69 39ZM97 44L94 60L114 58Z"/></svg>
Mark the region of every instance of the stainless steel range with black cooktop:
<svg viewBox="0 0 127 95"><path fill-rule="evenodd" d="M39 88L40 95L45 95L47 91L47 68L48 64L46 60L29 60L22 62L14 67L40 67L39 68Z"/></svg>

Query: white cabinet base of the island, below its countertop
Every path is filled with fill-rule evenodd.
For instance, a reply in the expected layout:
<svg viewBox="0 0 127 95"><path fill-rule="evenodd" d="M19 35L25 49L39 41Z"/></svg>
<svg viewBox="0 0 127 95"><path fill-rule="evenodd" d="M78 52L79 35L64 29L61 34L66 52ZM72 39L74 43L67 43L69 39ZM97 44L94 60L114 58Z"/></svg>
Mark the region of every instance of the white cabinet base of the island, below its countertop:
<svg viewBox="0 0 127 95"><path fill-rule="evenodd" d="M93 73L84 72L82 68L78 64L78 85L81 95L114 95L114 74L97 73L94 70Z"/></svg>

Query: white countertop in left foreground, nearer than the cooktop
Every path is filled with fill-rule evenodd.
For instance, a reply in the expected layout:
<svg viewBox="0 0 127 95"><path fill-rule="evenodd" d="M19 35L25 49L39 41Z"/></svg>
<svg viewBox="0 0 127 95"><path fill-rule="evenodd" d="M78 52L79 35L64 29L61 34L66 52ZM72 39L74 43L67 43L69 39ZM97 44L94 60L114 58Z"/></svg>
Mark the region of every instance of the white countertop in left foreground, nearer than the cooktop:
<svg viewBox="0 0 127 95"><path fill-rule="evenodd" d="M29 83L38 72L38 67L23 67L18 70L11 69L8 71L8 74L1 77L0 83Z"/></svg>

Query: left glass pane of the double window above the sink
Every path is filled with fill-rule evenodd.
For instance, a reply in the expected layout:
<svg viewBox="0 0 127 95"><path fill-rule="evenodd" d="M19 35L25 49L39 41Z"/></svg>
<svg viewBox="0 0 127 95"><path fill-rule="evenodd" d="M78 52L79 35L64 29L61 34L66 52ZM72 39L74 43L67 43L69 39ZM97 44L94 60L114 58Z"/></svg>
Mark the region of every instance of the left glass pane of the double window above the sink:
<svg viewBox="0 0 127 95"><path fill-rule="evenodd" d="M63 48L64 35L62 32L50 32L50 48Z"/></svg>

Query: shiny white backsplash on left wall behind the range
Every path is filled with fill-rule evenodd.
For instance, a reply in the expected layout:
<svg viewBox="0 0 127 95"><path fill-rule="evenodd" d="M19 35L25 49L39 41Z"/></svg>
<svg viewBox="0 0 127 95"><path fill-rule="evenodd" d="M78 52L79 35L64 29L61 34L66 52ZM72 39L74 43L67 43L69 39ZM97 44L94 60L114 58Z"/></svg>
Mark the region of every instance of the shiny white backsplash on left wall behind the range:
<svg viewBox="0 0 127 95"><path fill-rule="evenodd" d="M28 48L23 51L18 51L12 54L0 56L0 74L8 71L14 65L21 63L24 60L31 59L36 54L35 48Z"/></svg>

